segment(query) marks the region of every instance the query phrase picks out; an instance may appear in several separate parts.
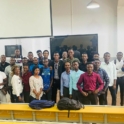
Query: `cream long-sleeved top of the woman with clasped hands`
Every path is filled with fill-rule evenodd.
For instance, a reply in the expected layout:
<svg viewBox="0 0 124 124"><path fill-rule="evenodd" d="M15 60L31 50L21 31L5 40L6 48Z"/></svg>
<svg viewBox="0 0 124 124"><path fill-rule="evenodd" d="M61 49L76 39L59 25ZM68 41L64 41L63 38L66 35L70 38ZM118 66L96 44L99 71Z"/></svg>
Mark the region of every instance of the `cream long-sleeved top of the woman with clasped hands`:
<svg viewBox="0 0 124 124"><path fill-rule="evenodd" d="M36 95L34 94L33 90L35 89L37 92L40 91L40 89L43 89L43 79L41 76L39 76L39 78L35 78L34 76L31 76L29 79L29 85L30 85L30 95L33 98L36 98ZM43 91L41 92L40 96L39 96L39 100L43 95Z"/></svg>

